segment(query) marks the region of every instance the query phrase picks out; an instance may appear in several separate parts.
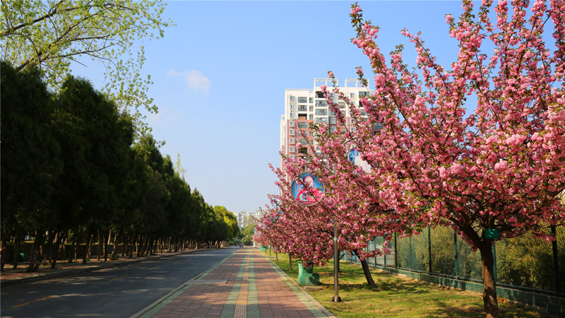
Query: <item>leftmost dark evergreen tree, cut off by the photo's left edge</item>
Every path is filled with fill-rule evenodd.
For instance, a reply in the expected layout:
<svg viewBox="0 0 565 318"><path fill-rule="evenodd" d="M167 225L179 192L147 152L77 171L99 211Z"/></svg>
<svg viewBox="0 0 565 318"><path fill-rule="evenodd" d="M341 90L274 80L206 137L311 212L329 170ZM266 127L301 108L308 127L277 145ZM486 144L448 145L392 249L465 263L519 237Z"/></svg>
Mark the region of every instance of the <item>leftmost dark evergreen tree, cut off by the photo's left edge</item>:
<svg viewBox="0 0 565 318"><path fill-rule="evenodd" d="M54 103L37 68L18 72L1 62L1 268L6 237L49 220L49 196L61 171L59 144L52 136ZM17 261L14 264L17 266Z"/></svg>

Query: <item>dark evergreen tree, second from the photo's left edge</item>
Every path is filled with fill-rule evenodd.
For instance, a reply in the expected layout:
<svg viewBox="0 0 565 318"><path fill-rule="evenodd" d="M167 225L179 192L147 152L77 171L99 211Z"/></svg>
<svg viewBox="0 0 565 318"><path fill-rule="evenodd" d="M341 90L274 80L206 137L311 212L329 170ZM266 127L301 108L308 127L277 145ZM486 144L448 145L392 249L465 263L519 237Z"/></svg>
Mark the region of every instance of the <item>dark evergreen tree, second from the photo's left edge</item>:
<svg viewBox="0 0 565 318"><path fill-rule="evenodd" d="M57 213L51 230L83 226L88 240L96 230L108 235L129 182L132 119L83 78L68 76L55 102L63 171L52 198Z"/></svg>

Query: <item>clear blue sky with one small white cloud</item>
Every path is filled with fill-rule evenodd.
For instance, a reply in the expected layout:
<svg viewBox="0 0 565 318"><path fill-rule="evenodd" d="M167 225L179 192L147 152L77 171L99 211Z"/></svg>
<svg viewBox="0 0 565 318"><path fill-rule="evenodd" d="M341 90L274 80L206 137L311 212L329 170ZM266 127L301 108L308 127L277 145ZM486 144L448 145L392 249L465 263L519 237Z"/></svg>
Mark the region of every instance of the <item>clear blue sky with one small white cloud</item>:
<svg viewBox="0 0 565 318"><path fill-rule="evenodd" d="M208 204L239 213L265 207L278 194L280 115L286 88L314 86L333 71L339 84L369 62L352 45L350 1L169 1L162 18L176 26L165 37L144 40L143 73L159 108L148 114L153 136L173 160L180 154L184 177ZM447 13L459 1L359 1L364 18L379 25L377 44L415 64L414 47L400 30L422 31L427 47L448 66L456 40ZM478 4L477 4L478 6ZM73 73L102 88L101 68L73 66ZM372 81L371 81L372 83Z"/></svg>

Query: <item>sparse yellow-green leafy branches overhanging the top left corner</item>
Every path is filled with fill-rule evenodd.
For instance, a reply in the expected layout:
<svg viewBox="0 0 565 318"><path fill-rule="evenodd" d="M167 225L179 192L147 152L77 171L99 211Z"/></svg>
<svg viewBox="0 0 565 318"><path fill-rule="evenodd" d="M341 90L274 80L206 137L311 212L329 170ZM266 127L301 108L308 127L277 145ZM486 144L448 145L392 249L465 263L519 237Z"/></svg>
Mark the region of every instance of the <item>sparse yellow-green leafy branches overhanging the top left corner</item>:
<svg viewBox="0 0 565 318"><path fill-rule="evenodd" d="M52 87L61 86L73 61L93 59L105 66L103 90L119 107L156 112L146 95L150 77L140 74L143 46L136 42L162 37L172 25L161 18L164 6L154 0L1 1L1 56L18 71L40 66Z"/></svg>

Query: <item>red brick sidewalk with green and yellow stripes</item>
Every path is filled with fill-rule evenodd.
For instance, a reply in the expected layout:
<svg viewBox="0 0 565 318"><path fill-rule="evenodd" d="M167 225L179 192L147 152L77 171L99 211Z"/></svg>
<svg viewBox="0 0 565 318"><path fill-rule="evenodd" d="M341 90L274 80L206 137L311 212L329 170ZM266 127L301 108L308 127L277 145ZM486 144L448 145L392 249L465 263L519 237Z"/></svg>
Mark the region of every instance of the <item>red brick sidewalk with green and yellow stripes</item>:
<svg viewBox="0 0 565 318"><path fill-rule="evenodd" d="M278 266L246 247L132 317L333 317Z"/></svg>

